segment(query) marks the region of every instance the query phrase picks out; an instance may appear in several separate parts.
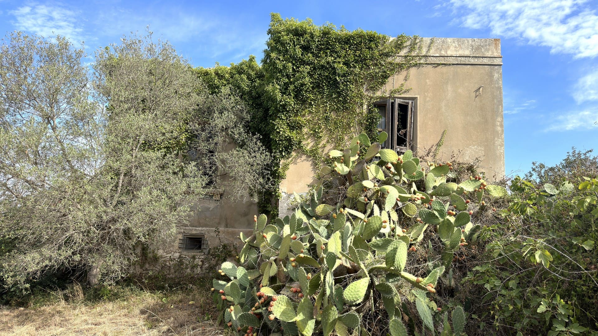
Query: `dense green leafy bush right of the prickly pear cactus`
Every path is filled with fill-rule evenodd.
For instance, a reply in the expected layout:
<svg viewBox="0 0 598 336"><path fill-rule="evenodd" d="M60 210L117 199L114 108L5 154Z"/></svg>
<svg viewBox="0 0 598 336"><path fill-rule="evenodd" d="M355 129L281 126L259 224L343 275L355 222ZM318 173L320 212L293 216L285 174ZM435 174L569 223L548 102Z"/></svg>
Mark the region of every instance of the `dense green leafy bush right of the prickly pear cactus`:
<svg viewBox="0 0 598 336"><path fill-rule="evenodd" d="M465 278L483 293L474 316L481 328L518 335L598 331L598 180L573 185L568 172L580 173L562 170L557 186L515 178L501 223L482 230L486 253Z"/></svg>

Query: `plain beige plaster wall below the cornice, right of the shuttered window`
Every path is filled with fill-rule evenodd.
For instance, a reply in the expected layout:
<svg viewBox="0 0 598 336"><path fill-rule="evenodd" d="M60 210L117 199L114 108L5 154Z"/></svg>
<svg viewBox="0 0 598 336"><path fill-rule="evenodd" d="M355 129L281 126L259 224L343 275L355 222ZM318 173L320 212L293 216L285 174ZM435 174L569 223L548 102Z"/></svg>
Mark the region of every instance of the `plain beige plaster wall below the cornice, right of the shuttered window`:
<svg viewBox="0 0 598 336"><path fill-rule="evenodd" d="M480 158L489 176L504 176L501 66L425 65L411 71L407 87L416 99L415 150L434 146L447 129L441 160L461 151L460 161Z"/></svg>

